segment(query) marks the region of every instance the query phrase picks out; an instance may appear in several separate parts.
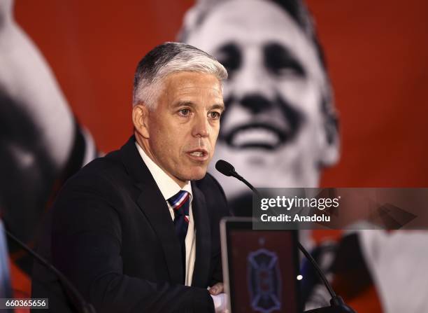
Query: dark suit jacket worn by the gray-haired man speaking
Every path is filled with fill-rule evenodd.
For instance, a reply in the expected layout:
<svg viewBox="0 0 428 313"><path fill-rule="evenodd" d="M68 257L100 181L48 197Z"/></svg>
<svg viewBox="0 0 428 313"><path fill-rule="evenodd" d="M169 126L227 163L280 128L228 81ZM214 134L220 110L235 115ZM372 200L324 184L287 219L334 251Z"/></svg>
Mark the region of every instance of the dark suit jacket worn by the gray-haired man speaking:
<svg viewBox="0 0 428 313"><path fill-rule="evenodd" d="M206 288L222 281L219 221L229 210L210 174L192 182L192 192L192 287L183 285L171 215L134 137L66 182L39 251L98 312L213 312ZM62 287L40 265L34 267L32 296L50 298L51 312L66 312Z"/></svg>

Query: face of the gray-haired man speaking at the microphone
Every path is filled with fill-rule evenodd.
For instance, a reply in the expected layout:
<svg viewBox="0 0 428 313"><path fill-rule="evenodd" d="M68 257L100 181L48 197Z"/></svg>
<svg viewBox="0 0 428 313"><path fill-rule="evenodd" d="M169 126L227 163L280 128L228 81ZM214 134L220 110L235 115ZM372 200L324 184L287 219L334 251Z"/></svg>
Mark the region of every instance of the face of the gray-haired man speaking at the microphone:
<svg viewBox="0 0 428 313"><path fill-rule="evenodd" d="M221 85L213 75L182 72L164 79L157 106L145 118L145 148L180 186L205 176L223 108Z"/></svg>

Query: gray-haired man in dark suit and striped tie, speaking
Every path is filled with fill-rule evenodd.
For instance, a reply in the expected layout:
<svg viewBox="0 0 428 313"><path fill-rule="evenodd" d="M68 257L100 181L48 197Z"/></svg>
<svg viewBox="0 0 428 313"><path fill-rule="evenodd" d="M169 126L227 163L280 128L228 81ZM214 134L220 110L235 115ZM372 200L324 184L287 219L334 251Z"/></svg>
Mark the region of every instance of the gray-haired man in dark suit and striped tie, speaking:
<svg viewBox="0 0 428 313"><path fill-rule="evenodd" d="M134 79L134 136L66 182L40 251L98 312L222 312L220 185L206 174L227 72L183 43L157 46ZM213 286L210 291L208 286ZM35 265L33 297L64 312Z"/></svg>

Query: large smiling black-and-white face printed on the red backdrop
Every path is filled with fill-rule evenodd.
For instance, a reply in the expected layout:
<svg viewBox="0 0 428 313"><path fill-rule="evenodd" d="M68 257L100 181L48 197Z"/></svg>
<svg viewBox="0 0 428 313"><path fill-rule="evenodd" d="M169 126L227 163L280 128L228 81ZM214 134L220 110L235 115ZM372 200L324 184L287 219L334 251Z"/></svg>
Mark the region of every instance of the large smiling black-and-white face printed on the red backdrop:
<svg viewBox="0 0 428 313"><path fill-rule="evenodd" d="M186 41L229 73L211 170L227 195L246 187L218 174L218 159L255 186L318 186L321 165L338 158L337 133L327 136L322 109L327 76L315 44L287 11L269 0L220 1Z"/></svg>

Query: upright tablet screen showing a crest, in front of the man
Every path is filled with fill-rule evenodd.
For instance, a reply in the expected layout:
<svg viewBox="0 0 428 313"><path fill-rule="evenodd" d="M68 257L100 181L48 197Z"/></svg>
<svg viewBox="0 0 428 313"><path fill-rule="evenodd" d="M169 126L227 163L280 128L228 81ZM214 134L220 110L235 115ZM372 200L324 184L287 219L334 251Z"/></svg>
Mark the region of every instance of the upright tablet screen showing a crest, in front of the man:
<svg viewBox="0 0 428 313"><path fill-rule="evenodd" d="M231 312L300 312L296 232L252 230L245 221L224 228Z"/></svg>

